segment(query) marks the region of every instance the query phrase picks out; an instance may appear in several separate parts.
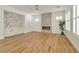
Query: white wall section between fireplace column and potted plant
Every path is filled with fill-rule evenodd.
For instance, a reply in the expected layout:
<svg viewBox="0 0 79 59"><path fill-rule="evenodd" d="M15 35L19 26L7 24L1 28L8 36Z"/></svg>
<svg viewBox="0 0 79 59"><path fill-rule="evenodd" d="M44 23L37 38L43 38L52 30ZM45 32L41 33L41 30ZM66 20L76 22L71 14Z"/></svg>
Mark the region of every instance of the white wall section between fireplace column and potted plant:
<svg viewBox="0 0 79 59"><path fill-rule="evenodd" d="M64 20L64 11L53 12L52 13L52 33L60 34L61 30L59 29L59 21L56 20L56 16L62 16Z"/></svg>

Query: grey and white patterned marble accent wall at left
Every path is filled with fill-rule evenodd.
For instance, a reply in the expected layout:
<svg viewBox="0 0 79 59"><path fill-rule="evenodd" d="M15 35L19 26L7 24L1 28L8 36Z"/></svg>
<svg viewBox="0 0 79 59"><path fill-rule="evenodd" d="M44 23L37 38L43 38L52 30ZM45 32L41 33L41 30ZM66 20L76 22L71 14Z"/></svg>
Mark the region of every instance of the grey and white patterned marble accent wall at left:
<svg viewBox="0 0 79 59"><path fill-rule="evenodd" d="M23 32L24 15L4 11L4 32L5 36L12 36Z"/></svg>

